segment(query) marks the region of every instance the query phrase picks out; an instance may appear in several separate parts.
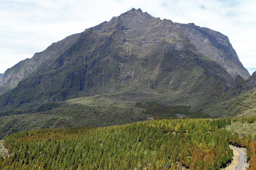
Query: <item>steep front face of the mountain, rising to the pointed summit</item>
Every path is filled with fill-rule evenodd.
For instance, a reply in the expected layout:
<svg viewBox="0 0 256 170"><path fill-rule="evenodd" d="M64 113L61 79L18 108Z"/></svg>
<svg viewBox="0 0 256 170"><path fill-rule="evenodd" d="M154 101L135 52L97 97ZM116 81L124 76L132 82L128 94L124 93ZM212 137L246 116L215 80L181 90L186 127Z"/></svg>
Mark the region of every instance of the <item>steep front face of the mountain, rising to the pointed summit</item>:
<svg viewBox="0 0 256 170"><path fill-rule="evenodd" d="M43 62L1 96L0 107L9 110L115 91L122 97L137 89L156 101L169 96L165 103L197 110L218 101L233 81L223 67L205 60L177 24L132 9L79 34L65 52ZM143 98L133 94L127 100Z"/></svg>

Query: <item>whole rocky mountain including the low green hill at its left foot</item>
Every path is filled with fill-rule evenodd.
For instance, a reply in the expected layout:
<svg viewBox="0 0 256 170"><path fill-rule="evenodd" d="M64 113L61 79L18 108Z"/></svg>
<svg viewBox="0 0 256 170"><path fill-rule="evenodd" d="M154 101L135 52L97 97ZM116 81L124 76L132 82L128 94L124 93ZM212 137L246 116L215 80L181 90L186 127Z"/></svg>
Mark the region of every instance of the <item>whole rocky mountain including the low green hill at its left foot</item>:
<svg viewBox="0 0 256 170"><path fill-rule="evenodd" d="M133 8L8 69L0 80L0 131L146 120L134 105L146 101L214 116L218 110L207 108L229 99L236 74L250 76L220 32Z"/></svg>

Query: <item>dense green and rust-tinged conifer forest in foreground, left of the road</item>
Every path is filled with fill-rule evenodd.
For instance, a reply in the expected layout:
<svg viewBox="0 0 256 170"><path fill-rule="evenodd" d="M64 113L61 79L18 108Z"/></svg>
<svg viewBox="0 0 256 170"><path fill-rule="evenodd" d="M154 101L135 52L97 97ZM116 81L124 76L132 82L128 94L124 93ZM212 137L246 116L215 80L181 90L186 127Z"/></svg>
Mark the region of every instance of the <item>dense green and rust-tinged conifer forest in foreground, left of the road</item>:
<svg viewBox="0 0 256 170"><path fill-rule="evenodd" d="M19 132L0 169L220 169L232 159L228 122L153 120L112 127Z"/></svg>

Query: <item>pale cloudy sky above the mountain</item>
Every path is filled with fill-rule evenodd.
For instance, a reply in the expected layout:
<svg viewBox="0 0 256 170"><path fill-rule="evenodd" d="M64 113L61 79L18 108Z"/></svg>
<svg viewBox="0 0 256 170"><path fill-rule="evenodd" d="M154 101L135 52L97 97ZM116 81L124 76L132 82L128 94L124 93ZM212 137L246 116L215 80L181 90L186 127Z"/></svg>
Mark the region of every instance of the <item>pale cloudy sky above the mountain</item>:
<svg viewBox="0 0 256 170"><path fill-rule="evenodd" d="M131 8L225 34L243 66L256 71L255 0L0 0L0 73Z"/></svg>

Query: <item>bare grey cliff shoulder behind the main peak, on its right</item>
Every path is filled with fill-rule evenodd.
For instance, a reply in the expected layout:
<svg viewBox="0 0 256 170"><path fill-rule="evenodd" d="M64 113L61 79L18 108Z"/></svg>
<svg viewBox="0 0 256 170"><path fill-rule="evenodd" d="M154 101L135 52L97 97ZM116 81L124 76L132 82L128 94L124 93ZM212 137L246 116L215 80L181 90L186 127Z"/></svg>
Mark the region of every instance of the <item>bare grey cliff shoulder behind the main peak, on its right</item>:
<svg viewBox="0 0 256 170"><path fill-rule="evenodd" d="M198 27L195 24L175 24L182 29L191 43L196 46L196 49L204 55L205 59L217 62L233 77L240 75L246 80L250 76L239 61L227 36L208 28Z"/></svg>

